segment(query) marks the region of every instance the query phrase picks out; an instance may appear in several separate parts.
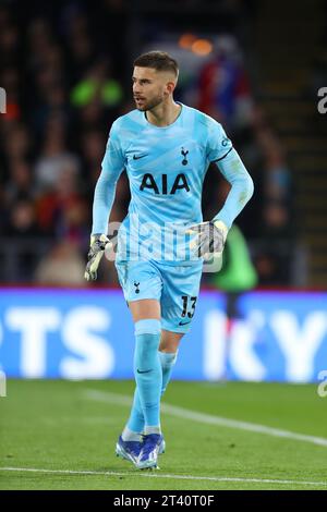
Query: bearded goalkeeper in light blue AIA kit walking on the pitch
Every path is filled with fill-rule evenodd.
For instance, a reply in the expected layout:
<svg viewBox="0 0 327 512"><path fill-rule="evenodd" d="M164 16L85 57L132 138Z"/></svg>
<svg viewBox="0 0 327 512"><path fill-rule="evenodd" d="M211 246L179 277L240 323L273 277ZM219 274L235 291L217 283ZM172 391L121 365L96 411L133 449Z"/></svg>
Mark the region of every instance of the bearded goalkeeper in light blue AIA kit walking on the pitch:
<svg viewBox="0 0 327 512"><path fill-rule="evenodd" d="M222 126L173 100L178 64L152 51L134 62L136 109L111 126L94 205L85 278L96 279L110 248L108 219L126 170L131 203L118 233L116 268L134 327L135 393L116 452L137 468L157 467L165 451L160 397L194 316L204 261L221 256L228 230L253 194L253 182ZM231 184L214 219L203 222L207 168Z"/></svg>

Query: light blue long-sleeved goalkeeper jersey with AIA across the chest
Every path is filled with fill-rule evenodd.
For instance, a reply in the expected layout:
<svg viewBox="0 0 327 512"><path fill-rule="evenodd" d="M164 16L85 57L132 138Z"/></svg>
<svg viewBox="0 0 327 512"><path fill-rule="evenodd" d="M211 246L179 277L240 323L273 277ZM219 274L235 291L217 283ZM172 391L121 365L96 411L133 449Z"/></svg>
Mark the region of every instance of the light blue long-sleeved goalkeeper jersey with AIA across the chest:
<svg viewBox="0 0 327 512"><path fill-rule="evenodd" d="M217 162L231 183L215 216L230 228L250 199L253 183L222 126L185 105L178 119L164 127L149 123L138 110L122 115L110 130L95 190L92 232L108 232L116 183L125 169L131 203L119 229L117 259L179 265L194 259L185 229L203 220L202 188L210 162Z"/></svg>

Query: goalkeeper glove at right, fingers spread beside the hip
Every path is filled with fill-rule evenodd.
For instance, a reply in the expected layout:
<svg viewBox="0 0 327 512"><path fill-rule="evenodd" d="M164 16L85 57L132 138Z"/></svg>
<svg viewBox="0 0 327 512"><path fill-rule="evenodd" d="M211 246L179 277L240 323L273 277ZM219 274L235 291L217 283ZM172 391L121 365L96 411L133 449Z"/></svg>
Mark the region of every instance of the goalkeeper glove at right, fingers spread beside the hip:
<svg viewBox="0 0 327 512"><path fill-rule="evenodd" d="M228 228L221 220L210 220L191 225L186 233L196 234L191 240L190 248L196 249L198 257L209 259L211 256L221 256Z"/></svg>

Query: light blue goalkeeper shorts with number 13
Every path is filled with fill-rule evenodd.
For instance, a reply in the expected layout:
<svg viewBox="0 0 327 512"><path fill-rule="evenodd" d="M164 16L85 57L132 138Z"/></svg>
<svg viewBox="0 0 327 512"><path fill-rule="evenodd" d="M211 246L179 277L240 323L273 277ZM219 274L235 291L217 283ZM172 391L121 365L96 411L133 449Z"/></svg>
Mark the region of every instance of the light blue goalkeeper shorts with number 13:
<svg viewBox="0 0 327 512"><path fill-rule="evenodd" d="M155 298L161 306L161 327L167 331L189 331L195 312L203 261L190 266L154 260L116 261L126 302Z"/></svg>

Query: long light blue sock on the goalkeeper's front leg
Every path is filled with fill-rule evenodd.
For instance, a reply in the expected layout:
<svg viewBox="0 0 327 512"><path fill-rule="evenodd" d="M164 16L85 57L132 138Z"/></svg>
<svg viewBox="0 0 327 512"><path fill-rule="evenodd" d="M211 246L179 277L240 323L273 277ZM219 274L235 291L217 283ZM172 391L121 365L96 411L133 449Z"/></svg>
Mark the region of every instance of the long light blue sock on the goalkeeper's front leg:
<svg viewBox="0 0 327 512"><path fill-rule="evenodd" d="M137 392L135 391L128 422L128 427L132 431L142 431L144 425L160 428L162 387L162 370L158 355L160 333L160 320L144 319L135 324L134 375Z"/></svg>

